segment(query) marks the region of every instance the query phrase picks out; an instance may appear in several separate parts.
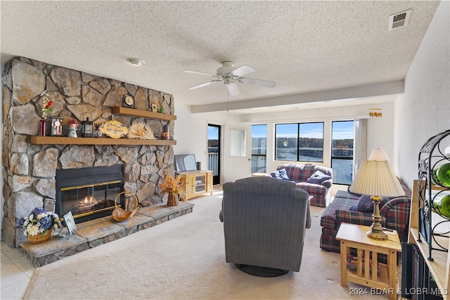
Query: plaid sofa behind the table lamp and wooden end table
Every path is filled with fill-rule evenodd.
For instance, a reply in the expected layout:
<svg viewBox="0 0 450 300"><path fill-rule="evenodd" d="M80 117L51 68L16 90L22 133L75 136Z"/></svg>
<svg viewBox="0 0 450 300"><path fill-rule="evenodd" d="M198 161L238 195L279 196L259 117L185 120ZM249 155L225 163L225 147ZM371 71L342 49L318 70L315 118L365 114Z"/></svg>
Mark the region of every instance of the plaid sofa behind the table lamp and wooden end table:
<svg viewBox="0 0 450 300"><path fill-rule="evenodd" d="M400 181L405 192L404 197L382 197L380 202L381 225L397 230L402 242L408 240L409 209L411 205L411 190ZM350 211L361 195L339 190L321 216L321 249L340 253L340 242L336 234L341 223L352 223L371 226L372 213Z"/></svg>

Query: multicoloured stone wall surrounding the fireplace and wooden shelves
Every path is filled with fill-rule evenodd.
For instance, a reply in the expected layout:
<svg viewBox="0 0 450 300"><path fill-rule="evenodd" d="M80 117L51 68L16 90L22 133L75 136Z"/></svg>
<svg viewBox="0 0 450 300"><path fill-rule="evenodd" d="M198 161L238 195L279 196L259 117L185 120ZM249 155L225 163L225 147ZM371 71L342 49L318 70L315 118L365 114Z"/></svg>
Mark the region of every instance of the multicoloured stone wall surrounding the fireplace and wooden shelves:
<svg viewBox="0 0 450 300"><path fill-rule="evenodd" d="M1 238L8 246L17 247L21 235L14 229L16 219L34 207L54 211L56 169L123 164L124 190L133 192L141 206L167 200L158 185L165 173L174 173L172 146L32 145L30 136L39 134L44 90L53 98L49 117L63 118L64 125L68 119L81 123L86 117L94 123L115 119L127 127L143 122L155 136L160 136L165 124L173 136L174 122L112 115L111 107L122 106L122 96L131 93L137 109L151 110L155 104L174 115L172 95L22 57L5 64L2 89L5 203Z"/></svg>

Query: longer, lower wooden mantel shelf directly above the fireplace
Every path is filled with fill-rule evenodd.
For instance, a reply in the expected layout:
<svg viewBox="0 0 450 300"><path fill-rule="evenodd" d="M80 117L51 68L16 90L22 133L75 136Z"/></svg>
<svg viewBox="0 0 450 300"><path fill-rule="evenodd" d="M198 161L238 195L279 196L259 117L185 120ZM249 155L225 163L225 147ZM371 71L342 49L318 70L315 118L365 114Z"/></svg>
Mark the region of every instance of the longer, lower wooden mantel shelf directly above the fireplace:
<svg viewBox="0 0 450 300"><path fill-rule="evenodd" d="M176 145L174 140L139 140L134 138L68 138L67 136L32 136L35 145Z"/></svg>

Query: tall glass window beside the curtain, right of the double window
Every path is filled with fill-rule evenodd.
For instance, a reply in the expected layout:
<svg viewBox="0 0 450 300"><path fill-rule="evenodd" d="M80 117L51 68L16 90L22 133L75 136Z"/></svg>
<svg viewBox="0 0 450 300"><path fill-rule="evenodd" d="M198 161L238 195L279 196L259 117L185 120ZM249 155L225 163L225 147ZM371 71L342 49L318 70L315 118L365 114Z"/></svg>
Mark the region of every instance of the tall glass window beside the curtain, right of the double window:
<svg viewBox="0 0 450 300"><path fill-rule="evenodd" d="M353 121L335 121L331 127L333 183L350 185L353 177L354 124Z"/></svg>

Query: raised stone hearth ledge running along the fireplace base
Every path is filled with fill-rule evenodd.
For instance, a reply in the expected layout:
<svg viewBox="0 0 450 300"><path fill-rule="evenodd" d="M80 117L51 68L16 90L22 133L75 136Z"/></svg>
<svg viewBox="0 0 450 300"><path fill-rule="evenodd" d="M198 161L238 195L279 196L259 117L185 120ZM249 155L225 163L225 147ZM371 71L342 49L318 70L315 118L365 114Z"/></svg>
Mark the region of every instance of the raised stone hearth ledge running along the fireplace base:
<svg viewBox="0 0 450 300"><path fill-rule="evenodd" d="M194 204L189 202L179 202L176 207L167 207L164 204L143 207L126 221L116 222L111 216L105 216L101 219L80 223L77 225L75 235L72 235L70 239L52 237L51 240L42 244L30 244L26 240L21 240L19 245L32 266L44 266L191 213L193 206ZM67 228L63 228L60 235L67 233Z"/></svg>

